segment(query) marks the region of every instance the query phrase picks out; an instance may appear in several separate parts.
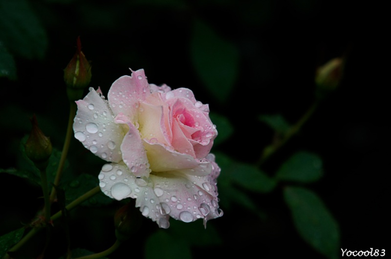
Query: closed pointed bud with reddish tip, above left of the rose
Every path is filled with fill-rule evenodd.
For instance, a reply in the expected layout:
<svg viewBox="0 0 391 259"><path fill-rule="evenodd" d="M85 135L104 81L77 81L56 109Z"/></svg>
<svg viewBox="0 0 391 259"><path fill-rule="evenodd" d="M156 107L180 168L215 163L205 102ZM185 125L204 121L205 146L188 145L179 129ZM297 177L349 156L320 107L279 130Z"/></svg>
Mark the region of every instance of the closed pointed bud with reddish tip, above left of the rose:
<svg viewBox="0 0 391 259"><path fill-rule="evenodd" d="M80 99L83 89L91 81L91 65L82 52L80 37L77 38L76 53L64 69L64 80L71 100Z"/></svg>

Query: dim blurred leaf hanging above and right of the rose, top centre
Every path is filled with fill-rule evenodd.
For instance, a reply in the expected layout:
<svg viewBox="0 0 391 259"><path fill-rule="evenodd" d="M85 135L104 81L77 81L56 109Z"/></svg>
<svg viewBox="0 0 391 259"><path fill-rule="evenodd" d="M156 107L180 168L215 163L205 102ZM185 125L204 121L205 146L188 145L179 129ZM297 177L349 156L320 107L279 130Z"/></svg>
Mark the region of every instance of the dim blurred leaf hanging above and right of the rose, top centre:
<svg viewBox="0 0 391 259"><path fill-rule="evenodd" d="M209 25L195 20L191 41L195 72L210 93L220 102L231 94L239 71L239 51L220 38Z"/></svg>

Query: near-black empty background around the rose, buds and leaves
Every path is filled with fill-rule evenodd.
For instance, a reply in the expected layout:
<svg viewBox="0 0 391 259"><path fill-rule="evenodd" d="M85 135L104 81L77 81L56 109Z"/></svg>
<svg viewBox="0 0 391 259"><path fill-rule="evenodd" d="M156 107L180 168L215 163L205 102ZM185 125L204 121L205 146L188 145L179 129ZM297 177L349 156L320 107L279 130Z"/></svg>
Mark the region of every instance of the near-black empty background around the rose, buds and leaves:
<svg viewBox="0 0 391 259"><path fill-rule="evenodd" d="M144 68L150 83L188 87L197 100L209 103L211 111L226 116L234 126L233 136L216 151L250 163L273 138L258 116L281 113L289 122L298 120L314 100L316 68L345 57L339 88L264 168L273 172L295 150L319 154L325 176L309 188L338 221L341 248L388 252L391 127L385 78L389 72L381 62L386 43L381 39L385 31L380 29L383 16L378 9L336 0L38 0L30 6L42 22L48 45L42 60L15 57L18 80L0 79L5 148L1 168L15 166L14 154L30 130L33 113L61 150L68 117L63 69L74 54L78 36L87 59L92 60L91 87L100 86L106 95L114 80L130 75L128 68ZM225 104L207 94L193 67L189 45L195 19L239 49L239 77ZM71 143L71 152L90 156L77 141ZM80 163L74 169L87 170L85 166ZM99 172L100 167L89 170ZM41 190L6 174L0 174L0 182L0 234L4 234L33 218L41 204L37 199ZM282 202L281 188L266 195L249 193L266 212L264 220L239 205L229 211L222 208L224 216L209 222L222 244L194 248L194 258L227 253L243 258L323 258L298 235ZM78 220L71 225L72 246L94 252L109 247L114 240L112 215L119 206L103 212L77 210ZM142 257L143 243L157 226L150 219L141 220L142 229L135 238L110 258Z"/></svg>

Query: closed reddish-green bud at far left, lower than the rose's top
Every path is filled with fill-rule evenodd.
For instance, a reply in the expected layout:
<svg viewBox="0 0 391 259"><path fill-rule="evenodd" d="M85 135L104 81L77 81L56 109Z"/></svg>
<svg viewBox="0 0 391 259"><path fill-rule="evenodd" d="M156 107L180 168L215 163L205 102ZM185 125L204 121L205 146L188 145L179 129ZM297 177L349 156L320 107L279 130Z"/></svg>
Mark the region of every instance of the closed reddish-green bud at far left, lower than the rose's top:
<svg viewBox="0 0 391 259"><path fill-rule="evenodd" d="M46 168L47 162L52 154L52 143L50 139L43 135L38 127L35 114L31 119L32 129L24 146L27 157L40 169Z"/></svg>

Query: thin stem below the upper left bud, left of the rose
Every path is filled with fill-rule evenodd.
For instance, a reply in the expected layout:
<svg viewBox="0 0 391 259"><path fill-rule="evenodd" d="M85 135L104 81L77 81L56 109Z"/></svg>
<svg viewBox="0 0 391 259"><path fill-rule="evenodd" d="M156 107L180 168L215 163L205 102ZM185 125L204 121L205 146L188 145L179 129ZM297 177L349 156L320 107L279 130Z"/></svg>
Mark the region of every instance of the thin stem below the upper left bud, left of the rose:
<svg viewBox="0 0 391 259"><path fill-rule="evenodd" d="M54 179L54 185L58 186L60 183L61 176L63 175L63 169L65 165L65 159L66 155L68 154L69 149L69 143L72 139L72 133L73 133L73 119L76 115L76 103L74 101L69 102L69 118L68 118L68 127L66 128L66 135L65 135L65 141L63 146L63 152L61 153L61 159L57 168L56 178ZM50 201L53 202L53 200L56 198L56 189L53 187L52 192L50 194Z"/></svg>

